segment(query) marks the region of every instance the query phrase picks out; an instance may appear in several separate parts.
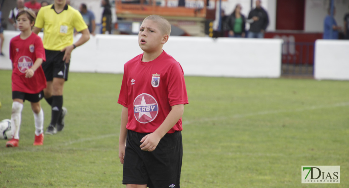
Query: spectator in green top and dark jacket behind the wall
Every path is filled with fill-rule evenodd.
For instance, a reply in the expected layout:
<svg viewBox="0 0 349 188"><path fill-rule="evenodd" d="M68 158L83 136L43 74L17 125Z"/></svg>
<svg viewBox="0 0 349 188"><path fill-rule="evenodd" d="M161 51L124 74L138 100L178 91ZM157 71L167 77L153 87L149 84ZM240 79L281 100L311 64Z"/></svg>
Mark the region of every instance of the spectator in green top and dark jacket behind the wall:
<svg viewBox="0 0 349 188"><path fill-rule="evenodd" d="M235 10L227 19L227 30L229 37L241 38L245 37L246 22L245 16L241 14L241 5L237 4Z"/></svg>

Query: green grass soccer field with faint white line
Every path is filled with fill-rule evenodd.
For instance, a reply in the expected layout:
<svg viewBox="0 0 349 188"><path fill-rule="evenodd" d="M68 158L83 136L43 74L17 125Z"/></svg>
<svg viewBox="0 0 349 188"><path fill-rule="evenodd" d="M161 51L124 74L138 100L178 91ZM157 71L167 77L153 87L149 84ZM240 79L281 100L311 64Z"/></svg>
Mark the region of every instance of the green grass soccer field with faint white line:
<svg viewBox="0 0 349 188"><path fill-rule="evenodd" d="M11 71L0 70L0 120ZM349 82L186 76L182 188L349 187ZM118 158L122 75L70 73L66 128L32 146L24 103L20 147L0 140L0 188L125 187ZM45 128L50 107L42 100ZM302 184L302 165L340 165L340 184Z"/></svg>

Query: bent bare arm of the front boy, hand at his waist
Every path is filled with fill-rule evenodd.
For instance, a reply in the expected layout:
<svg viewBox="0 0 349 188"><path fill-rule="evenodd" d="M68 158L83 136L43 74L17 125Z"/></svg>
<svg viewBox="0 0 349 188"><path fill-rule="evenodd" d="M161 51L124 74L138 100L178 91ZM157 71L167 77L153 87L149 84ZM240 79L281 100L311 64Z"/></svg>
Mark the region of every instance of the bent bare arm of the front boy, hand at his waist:
<svg viewBox="0 0 349 188"><path fill-rule="evenodd" d="M164 122L153 132L142 138L140 145L144 151L153 152L162 137L178 122L184 112L184 104L174 105L171 107L169 115Z"/></svg>

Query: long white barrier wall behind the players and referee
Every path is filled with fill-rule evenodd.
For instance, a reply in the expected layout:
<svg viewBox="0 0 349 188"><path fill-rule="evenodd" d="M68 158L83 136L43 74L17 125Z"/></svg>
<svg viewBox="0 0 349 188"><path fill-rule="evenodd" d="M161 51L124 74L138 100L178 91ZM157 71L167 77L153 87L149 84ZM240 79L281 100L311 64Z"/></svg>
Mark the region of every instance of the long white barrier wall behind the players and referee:
<svg viewBox="0 0 349 188"><path fill-rule="evenodd" d="M9 41L18 34L4 31L6 57L0 57L0 69L11 68ZM281 44L281 39L170 36L163 49L181 64L185 75L280 77ZM122 73L124 64L141 53L136 35L91 36L73 51L69 71Z"/></svg>

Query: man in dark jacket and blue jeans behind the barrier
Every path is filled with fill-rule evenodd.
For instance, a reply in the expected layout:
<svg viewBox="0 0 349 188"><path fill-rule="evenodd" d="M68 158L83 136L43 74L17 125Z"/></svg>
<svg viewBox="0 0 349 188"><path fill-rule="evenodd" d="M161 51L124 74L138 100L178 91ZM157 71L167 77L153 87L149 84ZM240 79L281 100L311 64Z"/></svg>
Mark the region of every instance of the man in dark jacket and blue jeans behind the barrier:
<svg viewBox="0 0 349 188"><path fill-rule="evenodd" d="M267 11L261 7L261 1L256 1L256 8L250 11L247 18L250 22L250 31L248 38L264 38L265 30L269 24L269 17Z"/></svg>

